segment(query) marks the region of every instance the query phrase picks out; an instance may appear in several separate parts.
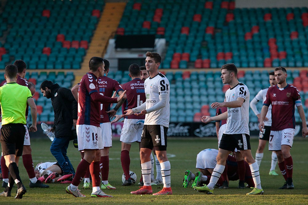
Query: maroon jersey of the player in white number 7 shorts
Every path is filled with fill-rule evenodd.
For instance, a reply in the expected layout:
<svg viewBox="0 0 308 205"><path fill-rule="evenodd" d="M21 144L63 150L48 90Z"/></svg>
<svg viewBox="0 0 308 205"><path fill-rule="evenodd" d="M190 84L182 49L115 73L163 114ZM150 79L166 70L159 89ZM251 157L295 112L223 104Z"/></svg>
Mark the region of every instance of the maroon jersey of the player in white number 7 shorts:
<svg viewBox="0 0 308 205"><path fill-rule="evenodd" d="M263 105L272 105L272 131L279 131L286 128L295 129L295 105L302 105L299 91L293 85L278 88L273 85L267 90L266 99Z"/></svg>

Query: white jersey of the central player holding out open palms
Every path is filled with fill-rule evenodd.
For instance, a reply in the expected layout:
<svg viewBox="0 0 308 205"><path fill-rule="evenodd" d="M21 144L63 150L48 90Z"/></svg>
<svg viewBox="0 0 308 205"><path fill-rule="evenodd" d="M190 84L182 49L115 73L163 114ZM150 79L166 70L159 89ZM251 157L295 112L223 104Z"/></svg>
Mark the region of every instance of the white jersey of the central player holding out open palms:
<svg viewBox="0 0 308 205"><path fill-rule="evenodd" d="M155 77L148 77L144 81L144 91L145 91L145 104L146 109L153 107L159 102L160 95L167 95L167 102L164 108L158 109L156 111L150 112L145 115L144 124L153 125L159 124L164 127L169 127L170 118L170 92L169 92L169 81L161 73L158 73Z"/></svg>

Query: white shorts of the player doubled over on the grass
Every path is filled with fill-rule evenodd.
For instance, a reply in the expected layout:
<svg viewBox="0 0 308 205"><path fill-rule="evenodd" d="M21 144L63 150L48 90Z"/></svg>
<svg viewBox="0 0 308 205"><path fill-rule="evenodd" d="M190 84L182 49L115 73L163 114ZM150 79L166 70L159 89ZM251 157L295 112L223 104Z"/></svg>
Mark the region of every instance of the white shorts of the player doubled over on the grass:
<svg viewBox="0 0 308 205"><path fill-rule="evenodd" d="M214 169L217 161L217 149L205 149L197 154L197 169Z"/></svg>

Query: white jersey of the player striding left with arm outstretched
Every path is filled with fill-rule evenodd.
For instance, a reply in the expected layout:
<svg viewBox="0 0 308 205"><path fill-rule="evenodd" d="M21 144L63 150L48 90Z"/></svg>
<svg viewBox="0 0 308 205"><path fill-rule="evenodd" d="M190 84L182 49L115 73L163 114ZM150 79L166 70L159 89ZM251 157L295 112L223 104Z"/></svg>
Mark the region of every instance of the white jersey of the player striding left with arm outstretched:
<svg viewBox="0 0 308 205"><path fill-rule="evenodd" d="M249 90L243 83L228 89L225 96L226 102L236 101L238 97L245 101L239 108L227 108L228 118L225 134L248 134L249 135Z"/></svg>

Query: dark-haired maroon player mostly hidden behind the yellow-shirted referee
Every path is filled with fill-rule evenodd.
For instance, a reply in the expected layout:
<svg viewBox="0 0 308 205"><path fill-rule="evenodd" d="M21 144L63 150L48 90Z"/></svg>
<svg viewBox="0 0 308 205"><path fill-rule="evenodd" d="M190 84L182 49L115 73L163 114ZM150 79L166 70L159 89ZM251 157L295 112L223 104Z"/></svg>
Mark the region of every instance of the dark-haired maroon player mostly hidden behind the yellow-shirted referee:
<svg viewBox="0 0 308 205"><path fill-rule="evenodd" d="M27 86L32 95L34 95L35 93L35 86L33 86L33 84L31 86L29 86L28 81L25 78L26 76L26 69L27 69L27 65L23 60L16 60L14 62L14 65L17 66L18 69L18 78L17 78L17 84L19 85L23 85L23 86ZM0 87L2 85L6 84L6 80L2 81L0 84ZM28 117L28 107L29 105L27 104L26 107L26 119ZM26 126L25 126L26 128ZM29 187L30 188L34 188L34 187L40 187L40 188L48 188L49 186L47 184L42 184L39 180L37 180L37 178L35 177L35 173L34 173L34 167L33 167L33 160L32 160L32 155L31 155L32 149L30 146L30 136L29 136L29 132L28 132L28 128L26 128L26 134L25 134L25 139L24 139L24 144L23 144L23 151L22 151L22 162L23 165L28 173L30 182L29 182ZM9 175L9 170L8 168L5 166L5 160L4 157L1 157L1 167L2 167L2 175L3 175L3 182L2 182L2 187L6 187L7 186L7 182L8 182L8 175Z"/></svg>

